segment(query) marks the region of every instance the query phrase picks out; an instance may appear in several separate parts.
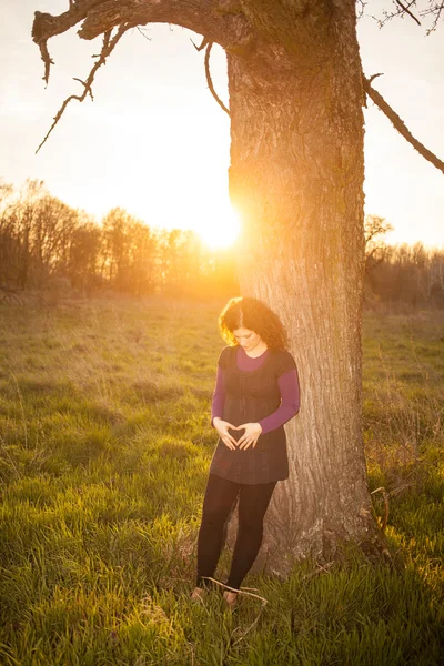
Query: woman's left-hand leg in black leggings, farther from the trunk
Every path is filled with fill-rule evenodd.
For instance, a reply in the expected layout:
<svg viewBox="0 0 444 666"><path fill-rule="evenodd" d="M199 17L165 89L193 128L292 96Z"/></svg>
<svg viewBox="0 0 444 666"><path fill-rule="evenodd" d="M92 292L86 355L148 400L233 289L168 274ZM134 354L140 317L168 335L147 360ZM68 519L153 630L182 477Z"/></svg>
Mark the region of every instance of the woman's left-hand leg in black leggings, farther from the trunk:
<svg viewBox="0 0 444 666"><path fill-rule="evenodd" d="M202 523L198 538L196 585L213 577L224 542L224 525L235 502L240 485L210 474L203 500Z"/></svg>

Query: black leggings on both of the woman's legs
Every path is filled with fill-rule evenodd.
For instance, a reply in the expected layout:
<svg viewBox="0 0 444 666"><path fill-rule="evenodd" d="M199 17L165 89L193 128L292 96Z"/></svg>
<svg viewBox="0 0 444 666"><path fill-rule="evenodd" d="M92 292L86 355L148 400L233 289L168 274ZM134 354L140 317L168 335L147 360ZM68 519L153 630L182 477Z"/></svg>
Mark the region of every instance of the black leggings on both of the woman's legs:
<svg viewBox="0 0 444 666"><path fill-rule="evenodd" d="M225 541L225 523L239 495L239 528L226 585L239 589L262 543L263 518L278 482L248 485L210 474L198 539L198 587L213 577Z"/></svg>

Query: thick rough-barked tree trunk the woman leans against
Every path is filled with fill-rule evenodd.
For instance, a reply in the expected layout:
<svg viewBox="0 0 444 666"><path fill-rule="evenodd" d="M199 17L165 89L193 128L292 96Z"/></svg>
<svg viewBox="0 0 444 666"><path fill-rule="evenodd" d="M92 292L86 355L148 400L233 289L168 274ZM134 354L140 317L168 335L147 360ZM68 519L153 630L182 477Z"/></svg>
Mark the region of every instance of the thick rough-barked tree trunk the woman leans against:
<svg viewBox="0 0 444 666"><path fill-rule="evenodd" d="M320 31L319 31L320 33ZM322 30L321 30L322 33ZM361 62L353 2L322 48L259 42L228 52L231 196L244 222L243 295L284 322L300 373L287 426L290 480L278 484L264 549L285 573L330 559L371 531L361 432L364 269Z"/></svg>

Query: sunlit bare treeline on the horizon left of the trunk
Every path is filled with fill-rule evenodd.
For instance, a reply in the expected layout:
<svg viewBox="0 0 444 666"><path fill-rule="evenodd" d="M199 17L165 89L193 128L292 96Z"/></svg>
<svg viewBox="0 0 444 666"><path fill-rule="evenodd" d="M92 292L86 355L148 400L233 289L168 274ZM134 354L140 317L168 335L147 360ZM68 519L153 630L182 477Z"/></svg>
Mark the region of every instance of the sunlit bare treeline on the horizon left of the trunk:
<svg viewBox="0 0 444 666"><path fill-rule="evenodd" d="M122 209L97 223L52 196L42 181L0 182L0 286L211 297L239 293L232 251L211 251L192 231L155 230Z"/></svg>

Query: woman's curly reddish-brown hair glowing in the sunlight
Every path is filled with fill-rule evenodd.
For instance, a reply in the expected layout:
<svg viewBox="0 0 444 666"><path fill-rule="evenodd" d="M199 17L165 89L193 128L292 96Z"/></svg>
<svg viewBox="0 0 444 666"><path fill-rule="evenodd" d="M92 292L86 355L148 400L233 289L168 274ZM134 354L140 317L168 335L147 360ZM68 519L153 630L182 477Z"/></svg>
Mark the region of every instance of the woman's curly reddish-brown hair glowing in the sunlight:
<svg viewBox="0 0 444 666"><path fill-rule="evenodd" d="M283 323L265 303L258 299L231 299L219 315L222 337L231 346L238 344L233 331L242 327L259 333L270 349L287 347L287 335Z"/></svg>

